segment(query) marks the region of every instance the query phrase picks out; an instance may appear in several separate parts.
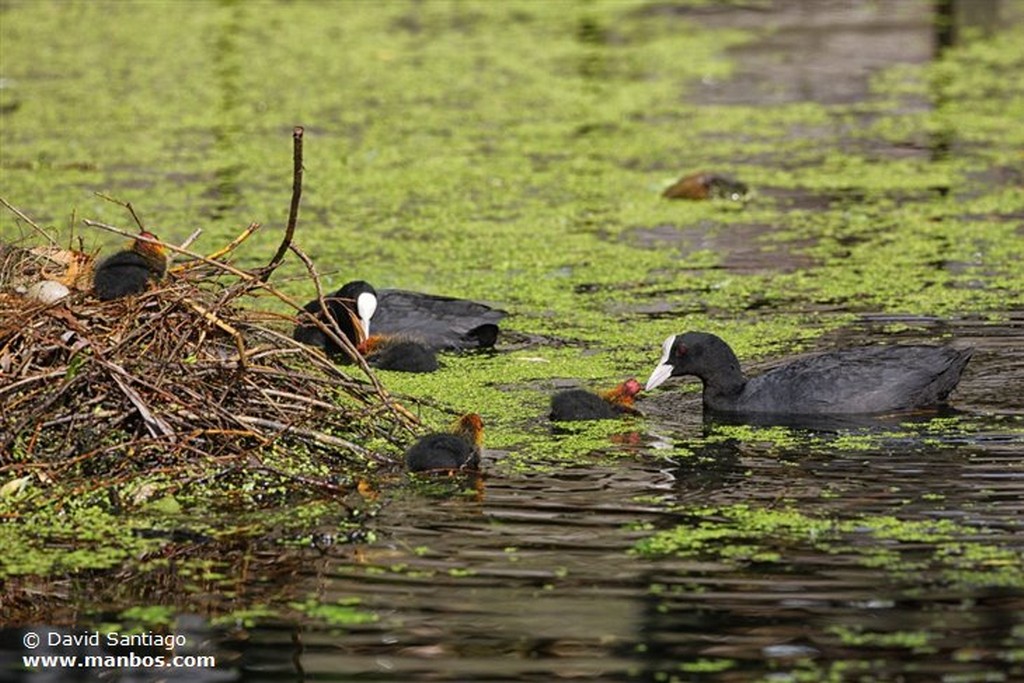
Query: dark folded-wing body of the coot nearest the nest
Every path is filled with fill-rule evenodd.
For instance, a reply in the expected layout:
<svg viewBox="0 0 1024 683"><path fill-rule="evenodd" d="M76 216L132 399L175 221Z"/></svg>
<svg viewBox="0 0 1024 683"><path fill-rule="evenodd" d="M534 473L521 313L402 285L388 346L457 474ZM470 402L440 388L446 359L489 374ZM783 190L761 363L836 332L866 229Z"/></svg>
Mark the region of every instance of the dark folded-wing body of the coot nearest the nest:
<svg viewBox="0 0 1024 683"><path fill-rule="evenodd" d="M475 301L406 290L379 290L377 298L377 334L409 337L435 349L494 345L497 324L508 314Z"/></svg>

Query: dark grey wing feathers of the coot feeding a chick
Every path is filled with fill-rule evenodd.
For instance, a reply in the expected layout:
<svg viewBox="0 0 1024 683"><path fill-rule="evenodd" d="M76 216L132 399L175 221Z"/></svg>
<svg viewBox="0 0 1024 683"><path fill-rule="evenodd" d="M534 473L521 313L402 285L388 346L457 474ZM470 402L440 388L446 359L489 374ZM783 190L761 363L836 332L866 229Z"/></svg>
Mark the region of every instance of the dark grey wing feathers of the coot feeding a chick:
<svg viewBox="0 0 1024 683"><path fill-rule="evenodd" d="M945 346L869 346L809 356L746 383L737 412L868 414L934 405L971 357Z"/></svg>

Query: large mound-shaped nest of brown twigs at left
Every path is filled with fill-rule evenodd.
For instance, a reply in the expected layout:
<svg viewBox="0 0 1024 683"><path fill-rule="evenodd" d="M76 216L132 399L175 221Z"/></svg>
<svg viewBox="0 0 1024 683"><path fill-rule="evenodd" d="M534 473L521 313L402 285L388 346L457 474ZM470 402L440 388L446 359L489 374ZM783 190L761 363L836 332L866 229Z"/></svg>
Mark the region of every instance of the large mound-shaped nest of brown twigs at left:
<svg viewBox="0 0 1024 683"><path fill-rule="evenodd" d="M91 471L110 483L201 464L330 487L337 479L281 471L269 456L332 470L394 462L415 418L357 356L339 368L293 341L294 315L265 303L295 303L229 252L185 256L159 286L104 302L88 291L92 255L0 244L2 478ZM71 293L26 296L41 278Z"/></svg>

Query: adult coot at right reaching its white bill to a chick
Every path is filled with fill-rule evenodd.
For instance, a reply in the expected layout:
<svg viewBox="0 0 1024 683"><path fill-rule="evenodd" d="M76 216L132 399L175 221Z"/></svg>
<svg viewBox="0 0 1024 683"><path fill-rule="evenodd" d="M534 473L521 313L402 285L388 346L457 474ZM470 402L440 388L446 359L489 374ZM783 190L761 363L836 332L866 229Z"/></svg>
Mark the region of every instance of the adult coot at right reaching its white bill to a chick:
<svg viewBox="0 0 1024 683"><path fill-rule="evenodd" d="M706 412L760 415L868 415L943 402L973 349L862 346L800 358L746 379L729 345L715 335L669 337L647 389L670 377L703 384Z"/></svg>

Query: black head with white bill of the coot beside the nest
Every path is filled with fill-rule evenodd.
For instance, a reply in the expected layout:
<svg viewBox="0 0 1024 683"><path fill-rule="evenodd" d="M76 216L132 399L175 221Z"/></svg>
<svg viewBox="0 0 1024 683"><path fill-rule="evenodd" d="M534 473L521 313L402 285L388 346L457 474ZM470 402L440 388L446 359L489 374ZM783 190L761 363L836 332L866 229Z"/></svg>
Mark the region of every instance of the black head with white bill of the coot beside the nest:
<svg viewBox="0 0 1024 683"><path fill-rule="evenodd" d="M358 346L370 336L370 321L377 310L377 292L361 280L347 283L340 290L324 297L328 313L338 325L338 329L348 339L352 346ZM319 300L313 299L303 309L326 323L330 322L324 315ZM305 315L300 315L299 324L292 335L296 341L323 349L331 356L342 355L341 346L328 337L313 325Z"/></svg>

